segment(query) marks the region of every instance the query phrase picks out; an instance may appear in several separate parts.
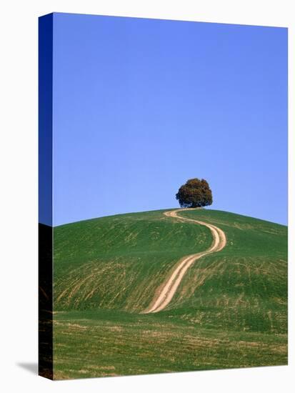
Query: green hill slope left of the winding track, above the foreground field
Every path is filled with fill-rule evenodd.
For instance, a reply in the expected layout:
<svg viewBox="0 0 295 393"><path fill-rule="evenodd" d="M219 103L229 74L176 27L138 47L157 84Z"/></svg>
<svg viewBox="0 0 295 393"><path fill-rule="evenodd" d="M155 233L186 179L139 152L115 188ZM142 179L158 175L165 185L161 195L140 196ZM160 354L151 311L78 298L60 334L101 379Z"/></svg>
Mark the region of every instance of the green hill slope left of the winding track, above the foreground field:
<svg viewBox="0 0 295 393"><path fill-rule="evenodd" d="M162 211L121 214L54 229L54 307L141 312L185 254L207 249L210 230Z"/></svg>

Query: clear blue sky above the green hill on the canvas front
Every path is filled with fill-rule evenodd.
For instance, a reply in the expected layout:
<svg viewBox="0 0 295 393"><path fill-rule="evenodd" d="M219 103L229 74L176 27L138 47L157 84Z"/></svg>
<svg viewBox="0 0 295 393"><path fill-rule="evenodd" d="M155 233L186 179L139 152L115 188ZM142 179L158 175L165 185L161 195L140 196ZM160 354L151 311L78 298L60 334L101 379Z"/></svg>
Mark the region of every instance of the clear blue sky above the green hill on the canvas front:
<svg viewBox="0 0 295 393"><path fill-rule="evenodd" d="M178 207L287 222L287 29L54 14L54 225Z"/></svg>

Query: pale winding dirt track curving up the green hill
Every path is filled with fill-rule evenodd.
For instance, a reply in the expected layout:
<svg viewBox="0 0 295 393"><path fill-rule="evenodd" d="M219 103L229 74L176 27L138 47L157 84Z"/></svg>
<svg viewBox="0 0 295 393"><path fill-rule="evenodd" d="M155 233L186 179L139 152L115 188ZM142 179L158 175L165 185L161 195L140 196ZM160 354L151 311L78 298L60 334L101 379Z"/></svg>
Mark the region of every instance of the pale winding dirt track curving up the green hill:
<svg viewBox="0 0 295 393"><path fill-rule="evenodd" d="M218 227L215 227L215 225L208 224L207 222L199 221L196 219L188 219L186 217L179 217L177 213L184 210L187 211L188 209L171 210L169 212L165 212L164 214L167 217L173 217L182 222L189 221L194 222L195 224L204 225L211 230L213 242L209 249L207 249L206 251L198 252L197 254L191 254L184 258L181 258L181 260L176 264L176 268L174 269L174 271L168 277L166 283L161 285L161 287L163 285L164 286L159 291L159 295L151 302L149 307L144 310L143 314L149 314L150 312L159 312L164 309L171 302L171 299L172 297L174 297L176 289L181 283L181 279L183 279L184 274L186 274L186 270L189 269L191 264L193 264L197 259L204 257L204 255L211 254L212 252L221 251L221 249L226 246L226 235L224 234L224 231L222 231Z"/></svg>

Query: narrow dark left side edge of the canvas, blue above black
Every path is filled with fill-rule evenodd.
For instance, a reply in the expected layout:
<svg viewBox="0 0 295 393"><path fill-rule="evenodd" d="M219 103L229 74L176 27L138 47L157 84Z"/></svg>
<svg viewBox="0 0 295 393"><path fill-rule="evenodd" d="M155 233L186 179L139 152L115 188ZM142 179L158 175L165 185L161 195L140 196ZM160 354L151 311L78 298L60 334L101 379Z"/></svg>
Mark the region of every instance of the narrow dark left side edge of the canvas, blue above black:
<svg viewBox="0 0 295 393"><path fill-rule="evenodd" d="M39 375L53 379L53 15L39 18Z"/></svg>

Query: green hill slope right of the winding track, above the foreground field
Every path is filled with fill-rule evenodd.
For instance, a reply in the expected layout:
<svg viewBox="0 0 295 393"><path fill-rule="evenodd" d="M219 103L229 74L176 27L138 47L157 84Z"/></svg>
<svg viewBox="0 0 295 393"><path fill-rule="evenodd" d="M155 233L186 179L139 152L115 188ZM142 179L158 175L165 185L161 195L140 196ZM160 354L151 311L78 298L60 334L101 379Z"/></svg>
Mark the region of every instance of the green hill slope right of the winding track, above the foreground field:
<svg viewBox="0 0 295 393"><path fill-rule="evenodd" d="M168 309L206 327L286 333L286 227L213 210L181 215L223 229L227 244L189 269Z"/></svg>

